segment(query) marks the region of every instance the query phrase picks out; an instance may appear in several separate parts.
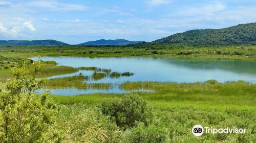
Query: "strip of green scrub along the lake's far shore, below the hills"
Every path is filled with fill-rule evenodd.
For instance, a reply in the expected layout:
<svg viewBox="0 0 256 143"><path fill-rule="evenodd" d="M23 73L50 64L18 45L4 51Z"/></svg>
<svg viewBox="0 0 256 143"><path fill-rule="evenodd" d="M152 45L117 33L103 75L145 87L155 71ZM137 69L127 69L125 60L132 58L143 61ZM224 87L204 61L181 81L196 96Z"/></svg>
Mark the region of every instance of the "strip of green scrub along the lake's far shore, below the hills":
<svg viewBox="0 0 256 143"><path fill-rule="evenodd" d="M61 55L256 55L256 45L236 46L184 46L182 44L133 44L126 46L0 46L0 52L15 53L40 53Z"/></svg>

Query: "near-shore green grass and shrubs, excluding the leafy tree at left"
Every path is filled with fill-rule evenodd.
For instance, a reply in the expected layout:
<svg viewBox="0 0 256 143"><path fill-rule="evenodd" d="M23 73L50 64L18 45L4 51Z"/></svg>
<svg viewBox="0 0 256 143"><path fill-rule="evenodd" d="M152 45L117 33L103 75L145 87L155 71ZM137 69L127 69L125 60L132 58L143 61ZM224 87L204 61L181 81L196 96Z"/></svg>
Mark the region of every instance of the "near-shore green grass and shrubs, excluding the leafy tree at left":
<svg viewBox="0 0 256 143"><path fill-rule="evenodd" d="M59 112L50 132L60 133L58 137L64 142L92 139L93 142L256 141L254 84L243 81L218 83L214 80L191 84L123 84L127 90L141 87L154 92L52 96L59 105ZM191 128L196 124L246 128L247 132L195 137Z"/></svg>

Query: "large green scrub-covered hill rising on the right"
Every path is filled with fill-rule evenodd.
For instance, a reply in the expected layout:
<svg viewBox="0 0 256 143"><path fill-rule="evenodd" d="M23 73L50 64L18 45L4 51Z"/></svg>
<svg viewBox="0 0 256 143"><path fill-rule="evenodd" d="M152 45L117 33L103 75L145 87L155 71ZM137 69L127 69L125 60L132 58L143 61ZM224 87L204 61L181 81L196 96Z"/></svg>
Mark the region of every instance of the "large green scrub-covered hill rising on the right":
<svg viewBox="0 0 256 143"><path fill-rule="evenodd" d="M152 41L152 43L191 46L256 44L256 22L223 29L190 30Z"/></svg>

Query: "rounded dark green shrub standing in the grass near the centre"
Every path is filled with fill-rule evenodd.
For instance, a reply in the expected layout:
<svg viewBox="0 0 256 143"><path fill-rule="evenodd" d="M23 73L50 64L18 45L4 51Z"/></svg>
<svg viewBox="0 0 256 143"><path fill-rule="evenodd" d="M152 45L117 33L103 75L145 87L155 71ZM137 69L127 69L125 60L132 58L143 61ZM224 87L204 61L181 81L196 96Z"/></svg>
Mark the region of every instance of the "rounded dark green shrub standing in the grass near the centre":
<svg viewBox="0 0 256 143"><path fill-rule="evenodd" d="M138 94L126 94L122 99L103 101L99 109L123 130L133 127L135 122L148 125L152 119L151 109Z"/></svg>

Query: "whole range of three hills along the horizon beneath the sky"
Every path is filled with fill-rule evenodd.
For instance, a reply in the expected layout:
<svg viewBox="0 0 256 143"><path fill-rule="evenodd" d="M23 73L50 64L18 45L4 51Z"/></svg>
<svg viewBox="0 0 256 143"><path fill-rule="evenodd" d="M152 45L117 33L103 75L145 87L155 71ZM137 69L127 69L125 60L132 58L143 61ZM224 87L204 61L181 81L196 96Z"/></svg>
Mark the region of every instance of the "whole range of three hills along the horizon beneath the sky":
<svg viewBox="0 0 256 143"><path fill-rule="evenodd" d="M143 41L96 40L77 45L126 45L137 44ZM174 34L162 39L150 42L152 44L183 44L189 46L204 45L256 45L256 22L237 25L223 29L190 30ZM143 44L143 43L142 43ZM0 40L0 45L70 45L56 40Z"/></svg>

